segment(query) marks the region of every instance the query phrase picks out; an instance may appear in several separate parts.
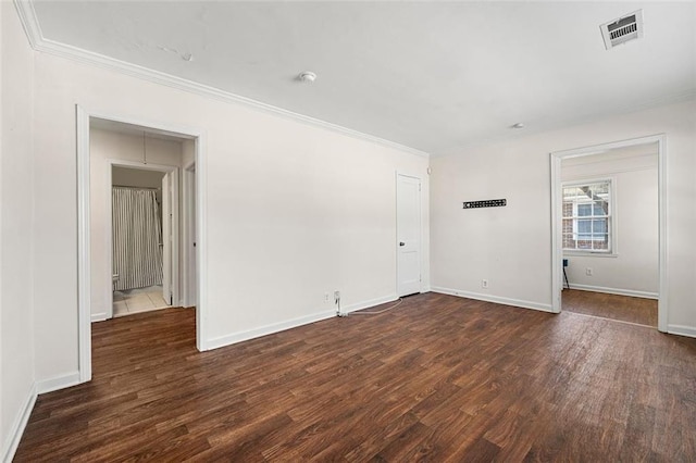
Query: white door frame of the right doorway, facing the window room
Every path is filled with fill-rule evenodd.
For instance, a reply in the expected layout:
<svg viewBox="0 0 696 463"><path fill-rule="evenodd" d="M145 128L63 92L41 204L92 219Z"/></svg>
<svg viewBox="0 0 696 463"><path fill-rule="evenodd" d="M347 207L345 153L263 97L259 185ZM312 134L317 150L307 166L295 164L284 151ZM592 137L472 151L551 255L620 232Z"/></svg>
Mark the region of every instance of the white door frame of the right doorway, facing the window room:
<svg viewBox="0 0 696 463"><path fill-rule="evenodd" d="M638 145L657 143L658 157L658 312L657 329L667 333L668 329L668 260L667 260L667 136L664 134L647 137L632 138L602 145L595 145L572 150L555 151L550 153L551 164L551 305L552 312L561 311L562 291L562 255L561 238L562 191L561 191L561 162L563 159L580 158L597 154L604 151L634 147Z"/></svg>

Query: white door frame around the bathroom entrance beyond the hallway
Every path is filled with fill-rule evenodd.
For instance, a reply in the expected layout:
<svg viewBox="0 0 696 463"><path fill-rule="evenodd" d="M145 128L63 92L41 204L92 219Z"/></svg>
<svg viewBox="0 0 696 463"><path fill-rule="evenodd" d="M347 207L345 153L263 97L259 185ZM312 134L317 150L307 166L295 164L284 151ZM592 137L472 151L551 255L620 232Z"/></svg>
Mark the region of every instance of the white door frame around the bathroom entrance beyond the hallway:
<svg viewBox="0 0 696 463"><path fill-rule="evenodd" d="M107 203L104 204L104 211L107 211L107 217L112 217L113 215L113 203L111 201L111 188L113 187L113 167L126 167L126 168L135 168L138 171L154 171L162 172L166 174L174 174L173 177L173 193L172 197L174 201L170 204L173 220L172 223L177 224L177 226L172 229L172 305L178 305L182 297L182 288L181 288L181 278L179 278L179 268L181 266L181 255L179 255L179 228L188 227L188 224L182 222L182 217L179 216L179 188L178 188L178 172L179 168L176 165L167 165L167 164L142 164L137 161L124 161L120 159L108 159L107 160L107 168L109 168L109 185L107 186L109 190L107 191L105 199ZM164 191L162 191L162 209L164 209ZM162 217L164 220L164 217ZM111 279L113 274L113 220L109 222L109 232L107 233L107 243L105 249L111 249L109 252L109 258L107 259L107 263L109 265L109 275L107 276L107 281L109 284L105 286L104 291L108 292L105 295L107 303L107 318L113 318L113 291L109 289L112 287ZM162 223L164 225L164 223ZM184 225L184 226L182 226ZM162 228L163 229L163 228ZM164 239L164 238L163 238Z"/></svg>

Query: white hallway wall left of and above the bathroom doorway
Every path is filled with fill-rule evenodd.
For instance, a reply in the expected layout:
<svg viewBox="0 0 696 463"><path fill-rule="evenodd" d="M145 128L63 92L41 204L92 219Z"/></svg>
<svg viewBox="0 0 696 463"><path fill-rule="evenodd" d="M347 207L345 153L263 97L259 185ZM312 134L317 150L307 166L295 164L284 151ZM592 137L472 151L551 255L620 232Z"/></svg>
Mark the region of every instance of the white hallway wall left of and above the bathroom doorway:
<svg viewBox="0 0 696 463"><path fill-rule="evenodd" d="M142 137L112 130L89 130L89 202L90 202L90 274L92 320L104 320L111 303L111 279L109 275L110 225L108 216L111 202L111 166L109 160L140 163L142 161ZM149 164L181 166L182 142L159 138L147 138ZM119 185L117 182L114 182Z"/></svg>

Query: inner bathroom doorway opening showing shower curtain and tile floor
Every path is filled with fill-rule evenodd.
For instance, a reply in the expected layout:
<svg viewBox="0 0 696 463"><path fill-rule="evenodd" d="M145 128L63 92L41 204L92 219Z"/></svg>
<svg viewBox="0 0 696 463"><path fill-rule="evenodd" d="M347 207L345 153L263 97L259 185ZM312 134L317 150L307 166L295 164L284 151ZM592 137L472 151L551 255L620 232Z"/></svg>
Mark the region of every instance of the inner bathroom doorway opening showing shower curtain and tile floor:
<svg viewBox="0 0 696 463"><path fill-rule="evenodd" d="M125 135L111 137L123 139ZM96 137L91 138L94 146ZM181 142L159 145L175 150L172 162L181 158ZM107 291L112 295L107 318L179 305L178 230L188 224L179 221L178 168L152 164L141 168L113 160L109 164L111 246L107 251L111 249L111 263L107 270L111 275L107 278L112 278L113 288ZM92 233L98 225L92 223ZM92 247L92 264L99 250Z"/></svg>

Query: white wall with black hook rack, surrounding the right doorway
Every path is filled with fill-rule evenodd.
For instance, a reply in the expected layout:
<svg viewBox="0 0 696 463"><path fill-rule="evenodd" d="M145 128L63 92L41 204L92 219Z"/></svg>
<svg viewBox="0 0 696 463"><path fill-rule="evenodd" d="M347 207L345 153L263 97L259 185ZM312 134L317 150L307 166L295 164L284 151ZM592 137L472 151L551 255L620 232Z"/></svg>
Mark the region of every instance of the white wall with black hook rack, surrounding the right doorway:
<svg viewBox="0 0 696 463"><path fill-rule="evenodd" d="M550 309L549 153L667 134L669 329L696 336L696 102L638 111L431 160L432 286ZM505 208L461 201L507 198ZM488 290L481 279L489 279Z"/></svg>

